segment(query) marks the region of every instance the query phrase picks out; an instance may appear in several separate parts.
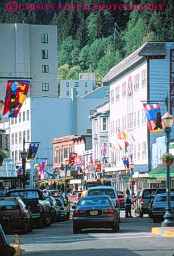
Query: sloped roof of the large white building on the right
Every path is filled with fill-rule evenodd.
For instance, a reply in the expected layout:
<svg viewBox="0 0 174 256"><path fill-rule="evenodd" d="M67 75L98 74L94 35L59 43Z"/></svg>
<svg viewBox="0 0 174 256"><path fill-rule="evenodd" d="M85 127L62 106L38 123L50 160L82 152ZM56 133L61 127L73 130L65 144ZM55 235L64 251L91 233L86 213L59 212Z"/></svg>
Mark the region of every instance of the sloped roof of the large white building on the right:
<svg viewBox="0 0 174 256"><path fill-rule="evenodd" d="M130 68L136 62L145 60L147 56L165 56L166 47L165 42L146 42L140 46L137 50L131 53L128 57L114 66L109 73L103 78L103 82L109 82L111 79L117 77L126 69Z"/></svg>

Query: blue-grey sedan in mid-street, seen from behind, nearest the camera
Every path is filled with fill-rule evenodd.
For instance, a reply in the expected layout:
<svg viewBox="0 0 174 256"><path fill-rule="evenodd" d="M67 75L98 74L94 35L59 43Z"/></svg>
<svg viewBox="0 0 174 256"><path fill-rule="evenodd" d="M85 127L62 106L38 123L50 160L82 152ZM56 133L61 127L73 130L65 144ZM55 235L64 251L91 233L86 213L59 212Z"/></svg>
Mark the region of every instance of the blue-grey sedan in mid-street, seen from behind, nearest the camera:
<svg viewBox="0 0 174 256"><path fill-rule="evenodd" d="M107 195L82 197L73 209L74 234L90 228L119 230L119 213Z"/></svg>

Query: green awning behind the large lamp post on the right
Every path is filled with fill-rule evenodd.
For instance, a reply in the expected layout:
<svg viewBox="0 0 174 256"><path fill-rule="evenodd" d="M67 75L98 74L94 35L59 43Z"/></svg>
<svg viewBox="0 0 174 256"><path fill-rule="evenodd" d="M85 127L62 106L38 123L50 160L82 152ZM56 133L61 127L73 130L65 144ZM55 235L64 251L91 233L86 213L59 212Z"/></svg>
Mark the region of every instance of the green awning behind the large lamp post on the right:
<svg viewBox="0 0 174 256"><path fill-rule="evenodd" d="M157 166L154 170L148 173L149 178L165 178L167 167L164 165ZM174 177L174 163L170 166L170 177Z"/></svg>

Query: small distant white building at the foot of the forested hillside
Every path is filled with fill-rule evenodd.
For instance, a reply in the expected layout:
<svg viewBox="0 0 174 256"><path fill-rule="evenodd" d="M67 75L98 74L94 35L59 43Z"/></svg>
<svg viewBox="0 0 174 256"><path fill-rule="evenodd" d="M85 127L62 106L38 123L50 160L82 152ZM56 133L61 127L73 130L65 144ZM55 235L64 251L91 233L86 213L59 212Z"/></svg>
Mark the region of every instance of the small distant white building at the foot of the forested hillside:
<svg viewBox="0 0 174 256"><path fill-rule="evenodd" d="M82 97L96 87L95 73L80 73L79 80L61 80L60 97L71 98L71 89L76 88L77 95Z"/></svg>

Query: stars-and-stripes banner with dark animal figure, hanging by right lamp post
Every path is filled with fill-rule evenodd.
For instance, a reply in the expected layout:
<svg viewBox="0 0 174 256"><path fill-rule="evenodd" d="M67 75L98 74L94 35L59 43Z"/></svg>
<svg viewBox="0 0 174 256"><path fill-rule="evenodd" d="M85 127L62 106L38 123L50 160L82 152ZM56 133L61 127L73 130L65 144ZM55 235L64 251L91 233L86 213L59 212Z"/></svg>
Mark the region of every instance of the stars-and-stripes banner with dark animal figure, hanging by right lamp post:
<svg viewBox="0 0 174 256"><path fill-rule="evenodd" d="M144 103L143 107L147 117L148 130L150 130L151 133L163 131L159 103Z"/></svg>

